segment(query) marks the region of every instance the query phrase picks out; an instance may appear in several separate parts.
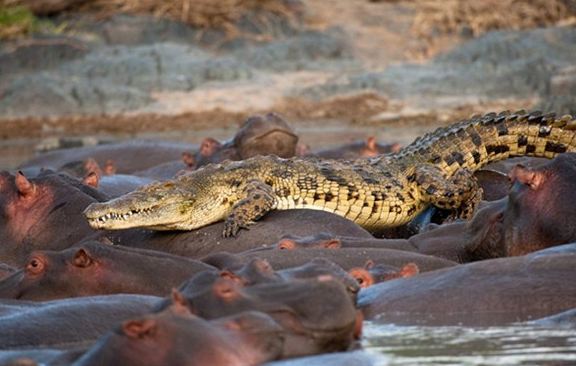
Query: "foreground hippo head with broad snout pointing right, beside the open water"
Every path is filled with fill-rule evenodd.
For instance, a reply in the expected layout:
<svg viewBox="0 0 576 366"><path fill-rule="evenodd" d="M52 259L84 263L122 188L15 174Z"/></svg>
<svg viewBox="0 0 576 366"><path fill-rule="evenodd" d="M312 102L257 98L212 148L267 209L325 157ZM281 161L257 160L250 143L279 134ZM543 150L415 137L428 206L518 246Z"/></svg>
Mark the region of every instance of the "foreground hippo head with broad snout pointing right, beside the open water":
<svg viewBox="0 0 576 366"><path fill-rule="evenodd" d="M267 313L285 331L283 358L346 350L360 334L362 318L332 276L249 287L219 277L190 281L179 290L191 311L206 319L250 310Z"/></svg>

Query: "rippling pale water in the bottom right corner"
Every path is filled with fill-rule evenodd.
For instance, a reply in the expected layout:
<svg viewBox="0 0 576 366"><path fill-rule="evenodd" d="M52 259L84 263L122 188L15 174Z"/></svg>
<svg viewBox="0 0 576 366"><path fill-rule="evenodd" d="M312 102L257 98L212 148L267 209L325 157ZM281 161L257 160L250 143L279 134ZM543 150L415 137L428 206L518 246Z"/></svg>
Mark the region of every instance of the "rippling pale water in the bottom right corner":
<svg viewBox="0 0 576 366"><path fill-rule="evenodd" d="M376 365L576 365L576 330L406 327L365 322L363 347Z"/></svg>

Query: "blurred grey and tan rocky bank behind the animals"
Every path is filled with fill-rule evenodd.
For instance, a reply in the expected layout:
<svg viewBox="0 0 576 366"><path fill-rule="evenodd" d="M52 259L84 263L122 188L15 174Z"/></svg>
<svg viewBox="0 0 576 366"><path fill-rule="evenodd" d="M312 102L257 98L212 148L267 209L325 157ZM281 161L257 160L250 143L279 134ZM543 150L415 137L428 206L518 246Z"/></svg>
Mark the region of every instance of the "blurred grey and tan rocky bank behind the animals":
<svg viewBox="0 0 576 366"><path fill-rule="evenodd" d="M63 15L63 34L4 42L0 164L49 138L225 138L268 111L315 145L368 134L407 143L495 109L576 113L573 26L443 37L431 51L411 31L412 2L303 3L286 19L241 19L235 34Z"/></svg>

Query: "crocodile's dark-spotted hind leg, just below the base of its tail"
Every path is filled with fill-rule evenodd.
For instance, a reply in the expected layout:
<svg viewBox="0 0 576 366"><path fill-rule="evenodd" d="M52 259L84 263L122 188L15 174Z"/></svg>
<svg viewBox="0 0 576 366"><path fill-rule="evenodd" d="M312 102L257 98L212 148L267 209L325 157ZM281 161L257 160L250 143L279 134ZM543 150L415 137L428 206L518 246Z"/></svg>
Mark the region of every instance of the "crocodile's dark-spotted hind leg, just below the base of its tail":
<svg viewBox="0 0 576 366"><path fill-rule="evenodd" d="M451 218L469 219L482 199L482 188L467 169L458 170L452 177L433 165L420 165L414 173L424 202L451 210Z"/></svg>

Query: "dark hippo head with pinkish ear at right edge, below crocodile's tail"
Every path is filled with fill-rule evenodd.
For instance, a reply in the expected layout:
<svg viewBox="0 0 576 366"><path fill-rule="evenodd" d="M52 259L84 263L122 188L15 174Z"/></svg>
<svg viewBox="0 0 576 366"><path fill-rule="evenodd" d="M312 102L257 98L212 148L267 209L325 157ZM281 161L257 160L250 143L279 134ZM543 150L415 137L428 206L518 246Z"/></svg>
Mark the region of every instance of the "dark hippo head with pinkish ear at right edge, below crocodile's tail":
<svg viewBox="0 0 576 366"><path fill-rule="evenodd" d="M576 154L510 172L513 182L504 214L506 254L523 255L576 240Z"/></svg>

